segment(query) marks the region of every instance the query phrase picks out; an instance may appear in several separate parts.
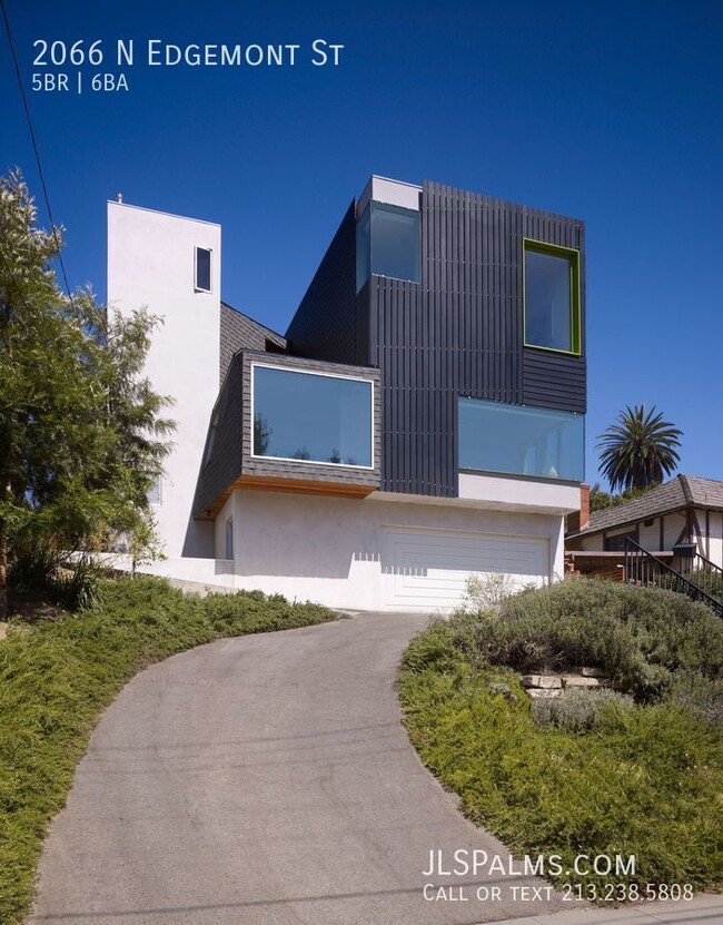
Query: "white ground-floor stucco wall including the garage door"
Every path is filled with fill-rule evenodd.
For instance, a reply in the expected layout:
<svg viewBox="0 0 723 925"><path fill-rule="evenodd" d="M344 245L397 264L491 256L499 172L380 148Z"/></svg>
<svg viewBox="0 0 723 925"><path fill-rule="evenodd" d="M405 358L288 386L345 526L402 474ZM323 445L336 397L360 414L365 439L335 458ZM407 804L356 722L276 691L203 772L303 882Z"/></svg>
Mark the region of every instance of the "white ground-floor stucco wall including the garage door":
<svg viewBox="0 0 723 925"><path fill-rule="evenodd" d="M483 572L508 570L521 584L563 574L563 522L554 514L237 490L217 520L219 559L231 511L236 585L291 600L353 610L448 610L473 561ZM398 557L410 547L422 565L409 568L405 560L400 568ZM427 562L429 571L443 573L420 601L415 589L427 593ZM407 579L405 600L399 587Z"/></svg>

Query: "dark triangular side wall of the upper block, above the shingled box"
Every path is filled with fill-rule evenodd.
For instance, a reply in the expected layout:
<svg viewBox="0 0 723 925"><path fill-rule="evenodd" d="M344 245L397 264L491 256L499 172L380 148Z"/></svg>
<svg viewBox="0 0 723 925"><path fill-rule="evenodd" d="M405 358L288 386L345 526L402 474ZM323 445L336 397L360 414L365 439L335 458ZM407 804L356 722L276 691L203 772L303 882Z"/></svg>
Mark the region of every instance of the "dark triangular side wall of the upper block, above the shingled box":
<svg viewBox="0 0 723 925"><path fill-rule="evenodd" d="M333 363L366 363L357 346L355 204L347 209L288 331L289 353Z"/></svg>

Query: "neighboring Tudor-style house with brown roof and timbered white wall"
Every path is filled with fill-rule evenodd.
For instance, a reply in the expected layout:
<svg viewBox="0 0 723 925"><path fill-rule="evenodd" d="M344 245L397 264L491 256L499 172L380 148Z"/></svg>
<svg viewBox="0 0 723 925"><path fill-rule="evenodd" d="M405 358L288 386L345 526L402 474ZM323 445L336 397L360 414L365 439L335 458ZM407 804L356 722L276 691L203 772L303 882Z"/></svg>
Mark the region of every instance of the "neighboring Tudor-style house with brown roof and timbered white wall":
<svg viewBox="0 0 723 925"><path fill-rule="evenodd" d="M663 558L673 567L681 565L681 552L697 552L723 568L723 482L676 475L664 485L640 498L595 511L585 519L587 501L582 500L582 529L575 524L565 540L573 553L622 553L630 538L648 552L670 553ZM695 544L695 550L682 550ZM677 554L674 553L679 548ZM583 562L584 559L580 559Z"/></svg>

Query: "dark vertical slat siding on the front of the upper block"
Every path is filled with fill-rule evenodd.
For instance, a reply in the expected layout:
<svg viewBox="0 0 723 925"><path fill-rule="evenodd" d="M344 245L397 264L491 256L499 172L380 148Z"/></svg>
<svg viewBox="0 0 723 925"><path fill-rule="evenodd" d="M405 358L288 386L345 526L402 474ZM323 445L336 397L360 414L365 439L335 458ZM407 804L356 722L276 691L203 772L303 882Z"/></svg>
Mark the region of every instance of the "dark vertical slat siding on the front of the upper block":
<svg viewBox="0 0 723 925"><path fill-rule="evenodd" d="M386 491L457 494L457 398L585 410L584 357L525 348L523 237L581 248L578 222L439 184L422 195L419 284L373 277ZM583 335L584 345L584 335Z"/></svg>

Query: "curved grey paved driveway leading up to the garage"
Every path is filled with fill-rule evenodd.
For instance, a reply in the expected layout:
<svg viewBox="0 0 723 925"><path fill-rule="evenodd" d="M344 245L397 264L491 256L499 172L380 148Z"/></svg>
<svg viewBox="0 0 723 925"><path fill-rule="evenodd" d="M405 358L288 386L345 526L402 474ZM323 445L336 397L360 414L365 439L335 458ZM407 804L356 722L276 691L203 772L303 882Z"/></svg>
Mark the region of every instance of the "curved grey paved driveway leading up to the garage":
<svg viewBox="0 0 723 925"><path fill-rule="evenodd" d="M364 614L215 642L140 673L52 825L31 922L463 925L562 907L538 880L424 875L430 852L507 860L400 725L397 662L426 623ZM427 883L456 893L426 901Z"/></svg>

